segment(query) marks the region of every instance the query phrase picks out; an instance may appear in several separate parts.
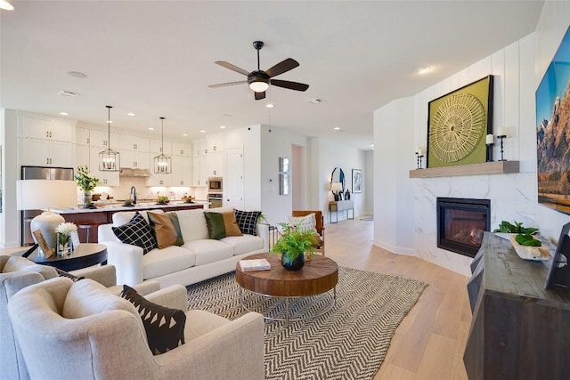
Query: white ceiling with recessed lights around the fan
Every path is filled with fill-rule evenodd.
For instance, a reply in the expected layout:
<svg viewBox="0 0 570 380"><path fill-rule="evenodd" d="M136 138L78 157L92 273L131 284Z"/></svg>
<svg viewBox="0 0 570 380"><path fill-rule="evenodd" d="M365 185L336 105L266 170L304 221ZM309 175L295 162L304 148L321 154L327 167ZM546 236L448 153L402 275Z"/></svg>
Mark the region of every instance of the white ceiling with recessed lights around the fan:
<svg viewBox="0 0 570 380"><path fill-rule="evenodd" d="M533 32L543 1L25 1L2 11L0 102L106 127L186 139L265 124L371 149L372 113ZM245 77L214 61L261 69L293 58L254 101ZM420 65L433 69L423 76ZM70 77L79 71L87 78ZM77 98L58 95L60 90ZM309 100L322 99L320 104ZM265 108L273 102L271 111ZM128 117L133 112L136 116ZM333 131L338 126L340 131ZM389 125L395 126L397 125Z"/></svg>

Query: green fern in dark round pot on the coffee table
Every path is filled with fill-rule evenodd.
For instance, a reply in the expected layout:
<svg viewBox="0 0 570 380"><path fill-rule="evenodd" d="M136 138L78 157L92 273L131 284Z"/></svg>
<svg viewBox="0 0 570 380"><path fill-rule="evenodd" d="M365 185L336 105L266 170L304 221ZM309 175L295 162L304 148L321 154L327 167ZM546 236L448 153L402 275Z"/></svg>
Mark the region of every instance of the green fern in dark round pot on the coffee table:
<svg viewBox="0 0 570 380"><path fill-rule="evenodd" d="M270 254L281 254L281 264L289 271L298 271L305 265L305 255L311 258L319 235L314 230L299 230L295 225L279 223L283 231Z"/></svg>

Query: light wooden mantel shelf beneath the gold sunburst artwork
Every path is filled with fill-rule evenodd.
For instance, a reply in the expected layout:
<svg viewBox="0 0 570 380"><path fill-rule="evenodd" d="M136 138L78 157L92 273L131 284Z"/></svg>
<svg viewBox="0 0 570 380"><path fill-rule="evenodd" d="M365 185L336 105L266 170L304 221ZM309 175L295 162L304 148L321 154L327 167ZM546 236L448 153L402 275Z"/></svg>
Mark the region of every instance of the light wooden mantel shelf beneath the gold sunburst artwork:
<svg viewBox="0 0 570 380"><path fill-rule="evenodd" d="M457 175L518 173L518 161L495 161L481 164L431 167L410 171L410 178L453 177Z"/></svg>

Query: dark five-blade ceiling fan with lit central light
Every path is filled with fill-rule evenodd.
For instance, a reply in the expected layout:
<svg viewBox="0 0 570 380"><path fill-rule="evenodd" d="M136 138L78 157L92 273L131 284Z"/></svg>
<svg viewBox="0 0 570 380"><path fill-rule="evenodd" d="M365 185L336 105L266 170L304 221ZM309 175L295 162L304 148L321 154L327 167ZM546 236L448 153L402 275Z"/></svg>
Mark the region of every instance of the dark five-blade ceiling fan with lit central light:
<svg viewBox="0 0 570 380"><path fill-rule="evenodd" d="M247 80L240 80L238 82L228 82L228 83L220 83L218 85L208 85L210 88L217 88L217 87L225 87L227 85L241 85L247 83L249 88L253 90L256 101L261 99L265 99L265 91L269 88L269 85L276 85L282 88L288 88L289 90L297 90L297 91L306 91L309 88L309 85L305 85L304 83L298 82L291 82L289 80L280 80L280 79L273 79L273 77L277 77L291 69L297 68L299 62L293 60L292 58L288 58L287 60L281 61L273 68L267 69L266 71L259 69L259 51L262 47L264 47L263 41L254 41L253 47L257 51L257 69L248 73L248 71L244 69L240 69L232 63L228 63L226 61L216 61L214 63L223 66L226 69L231 69L235 72L243 74L247 76Z"/></svg>

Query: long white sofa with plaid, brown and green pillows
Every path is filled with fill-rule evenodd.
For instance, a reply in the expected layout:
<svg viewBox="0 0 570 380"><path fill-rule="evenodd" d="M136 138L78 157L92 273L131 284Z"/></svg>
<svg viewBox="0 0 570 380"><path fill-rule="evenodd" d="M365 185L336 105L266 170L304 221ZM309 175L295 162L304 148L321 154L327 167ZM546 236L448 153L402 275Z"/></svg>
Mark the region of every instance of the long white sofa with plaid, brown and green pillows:
<svg viewBox="0 0 570 380"><path fill-rule="evenodd" d="M112 224L99 226L99 243L107 246L107 261L114 265L119 284L134 285L154 279L161 287L190 285L235 270L240 259L269 251L267 225L257 223L256 235L208 239L204 212L226 212L232 208L176 211L184 244L164 249L154 248L142 255L142 248L121 243L111 230L130 221L134 211L113 214ZM161 210L152 210L161 213ZM140 211L147 220L146 212Z"/></svg>

